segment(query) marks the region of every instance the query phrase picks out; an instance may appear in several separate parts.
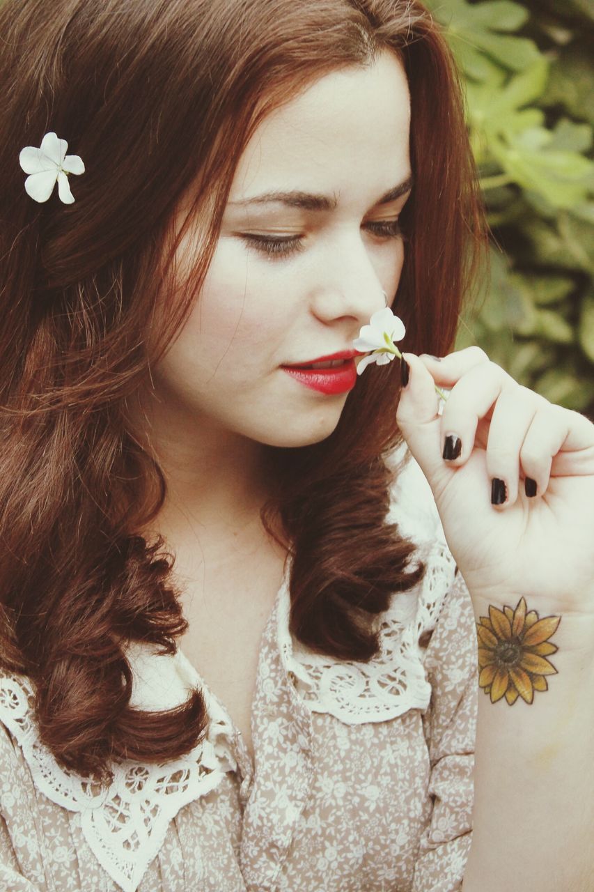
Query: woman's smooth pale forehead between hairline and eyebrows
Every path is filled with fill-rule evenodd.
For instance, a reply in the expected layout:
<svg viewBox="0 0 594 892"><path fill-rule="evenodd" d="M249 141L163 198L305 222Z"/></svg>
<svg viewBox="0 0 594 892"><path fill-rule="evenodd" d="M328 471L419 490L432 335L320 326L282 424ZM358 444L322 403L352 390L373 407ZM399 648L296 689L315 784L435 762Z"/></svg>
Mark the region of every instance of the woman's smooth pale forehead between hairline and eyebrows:
<svg viewBox="0 0 594 892"><path fill-rule="evenodd" d="M409 172L410 101L400 60L332 71L260 123L235 171L229 202L295 189L356 200Z"/></svg>

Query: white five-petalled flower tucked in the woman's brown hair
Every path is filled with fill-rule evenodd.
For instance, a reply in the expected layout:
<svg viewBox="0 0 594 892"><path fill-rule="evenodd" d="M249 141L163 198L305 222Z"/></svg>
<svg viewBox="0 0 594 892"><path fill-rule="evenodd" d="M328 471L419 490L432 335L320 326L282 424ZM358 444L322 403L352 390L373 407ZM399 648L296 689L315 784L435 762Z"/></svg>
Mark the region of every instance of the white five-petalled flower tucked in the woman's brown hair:
<svg viewBox="0 0 594 892"><path fill-rule="evenodd" d="M72 204L74 196L70 192L68 175L85 172L85 165L78 155L67 155L68 143L58 139L55 133L46 133L37 149L27 145L21 150L19 163L29 177L25 180L25 192L35 202L46 202L54 192L56 181L60 201Z"/></svg>

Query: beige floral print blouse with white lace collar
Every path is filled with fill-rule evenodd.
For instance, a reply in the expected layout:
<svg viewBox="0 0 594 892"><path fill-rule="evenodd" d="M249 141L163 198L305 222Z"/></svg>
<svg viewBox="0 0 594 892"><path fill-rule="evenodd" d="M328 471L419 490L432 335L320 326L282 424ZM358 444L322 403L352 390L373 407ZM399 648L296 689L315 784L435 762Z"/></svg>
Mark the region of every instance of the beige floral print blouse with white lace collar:
<svg viewBox="0 0 594 892"><path fill-rule="evenodd" d="M254 761L181 653L130 649L134 702L200 686L210 730L165 764L113 766L108 789L37 738L26 678L0 675L0 890L459 892L471 839L474 619L412 458L391 519L425 578L378 617L370 663L309 652L288 632L288 576L262 635Z"/></svg>

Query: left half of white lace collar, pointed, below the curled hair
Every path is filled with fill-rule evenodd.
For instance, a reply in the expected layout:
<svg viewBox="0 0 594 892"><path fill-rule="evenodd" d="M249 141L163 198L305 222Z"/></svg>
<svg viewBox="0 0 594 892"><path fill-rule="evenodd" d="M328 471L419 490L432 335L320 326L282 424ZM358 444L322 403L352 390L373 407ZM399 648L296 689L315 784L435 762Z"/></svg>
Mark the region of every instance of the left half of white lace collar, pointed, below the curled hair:
<svg viewBox="0 0 594 892"><path fill-rule="evenodd" d="M170 663L165 675L172 669ZM165 764L113 764L113 780L105 788L62 768L40 742L29 680L19 675L0 679L0 719L21 746L37 789L56 805L80 813L89 847L124 892L135 892L180 808L209 793L225 772L235 770L224 744L232 733L227 715L207 691L204 695L211 721L201 744Z"/></svg>

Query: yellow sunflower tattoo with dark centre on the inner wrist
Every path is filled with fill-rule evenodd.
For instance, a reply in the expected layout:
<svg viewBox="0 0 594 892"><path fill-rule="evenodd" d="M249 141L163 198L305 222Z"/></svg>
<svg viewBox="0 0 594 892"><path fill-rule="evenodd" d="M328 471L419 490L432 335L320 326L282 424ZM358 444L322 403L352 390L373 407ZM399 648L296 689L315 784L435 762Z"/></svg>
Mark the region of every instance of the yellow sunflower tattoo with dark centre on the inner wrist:
<svg viewBox="0 0 594 892"><path fill-rule="evenodd" d="M536 610L526 613L521 598L517 607L489 607L489 616L476 624L478 635L479 686L491 703L505 697L511 706L518 697L532 703L535 690L548 690L547 675L557 673L547 657L557 647L549 638L556 632L560 616L539 619Z"/></svg>

